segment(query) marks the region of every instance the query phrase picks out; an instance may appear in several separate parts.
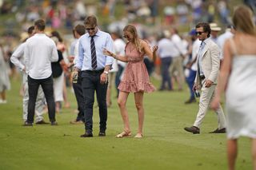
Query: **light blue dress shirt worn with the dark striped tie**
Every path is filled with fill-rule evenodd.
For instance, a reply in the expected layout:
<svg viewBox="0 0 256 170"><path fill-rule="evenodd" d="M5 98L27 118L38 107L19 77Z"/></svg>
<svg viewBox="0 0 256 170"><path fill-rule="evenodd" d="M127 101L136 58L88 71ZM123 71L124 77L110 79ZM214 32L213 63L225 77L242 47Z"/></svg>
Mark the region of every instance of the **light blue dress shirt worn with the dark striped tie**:
<svg viewBox="0 0 256 170"><path fill-rule="evenodd" d="M78 40L78 61L75 67L80 70L94 70L91 66L90 39L90 35L86 33ZM106 65L112 65L114 58L103 54L103 49L113 51L113 41L110 34L98 30L94 35L94 44L97 56L96 70L104 69Z"/></svg>

